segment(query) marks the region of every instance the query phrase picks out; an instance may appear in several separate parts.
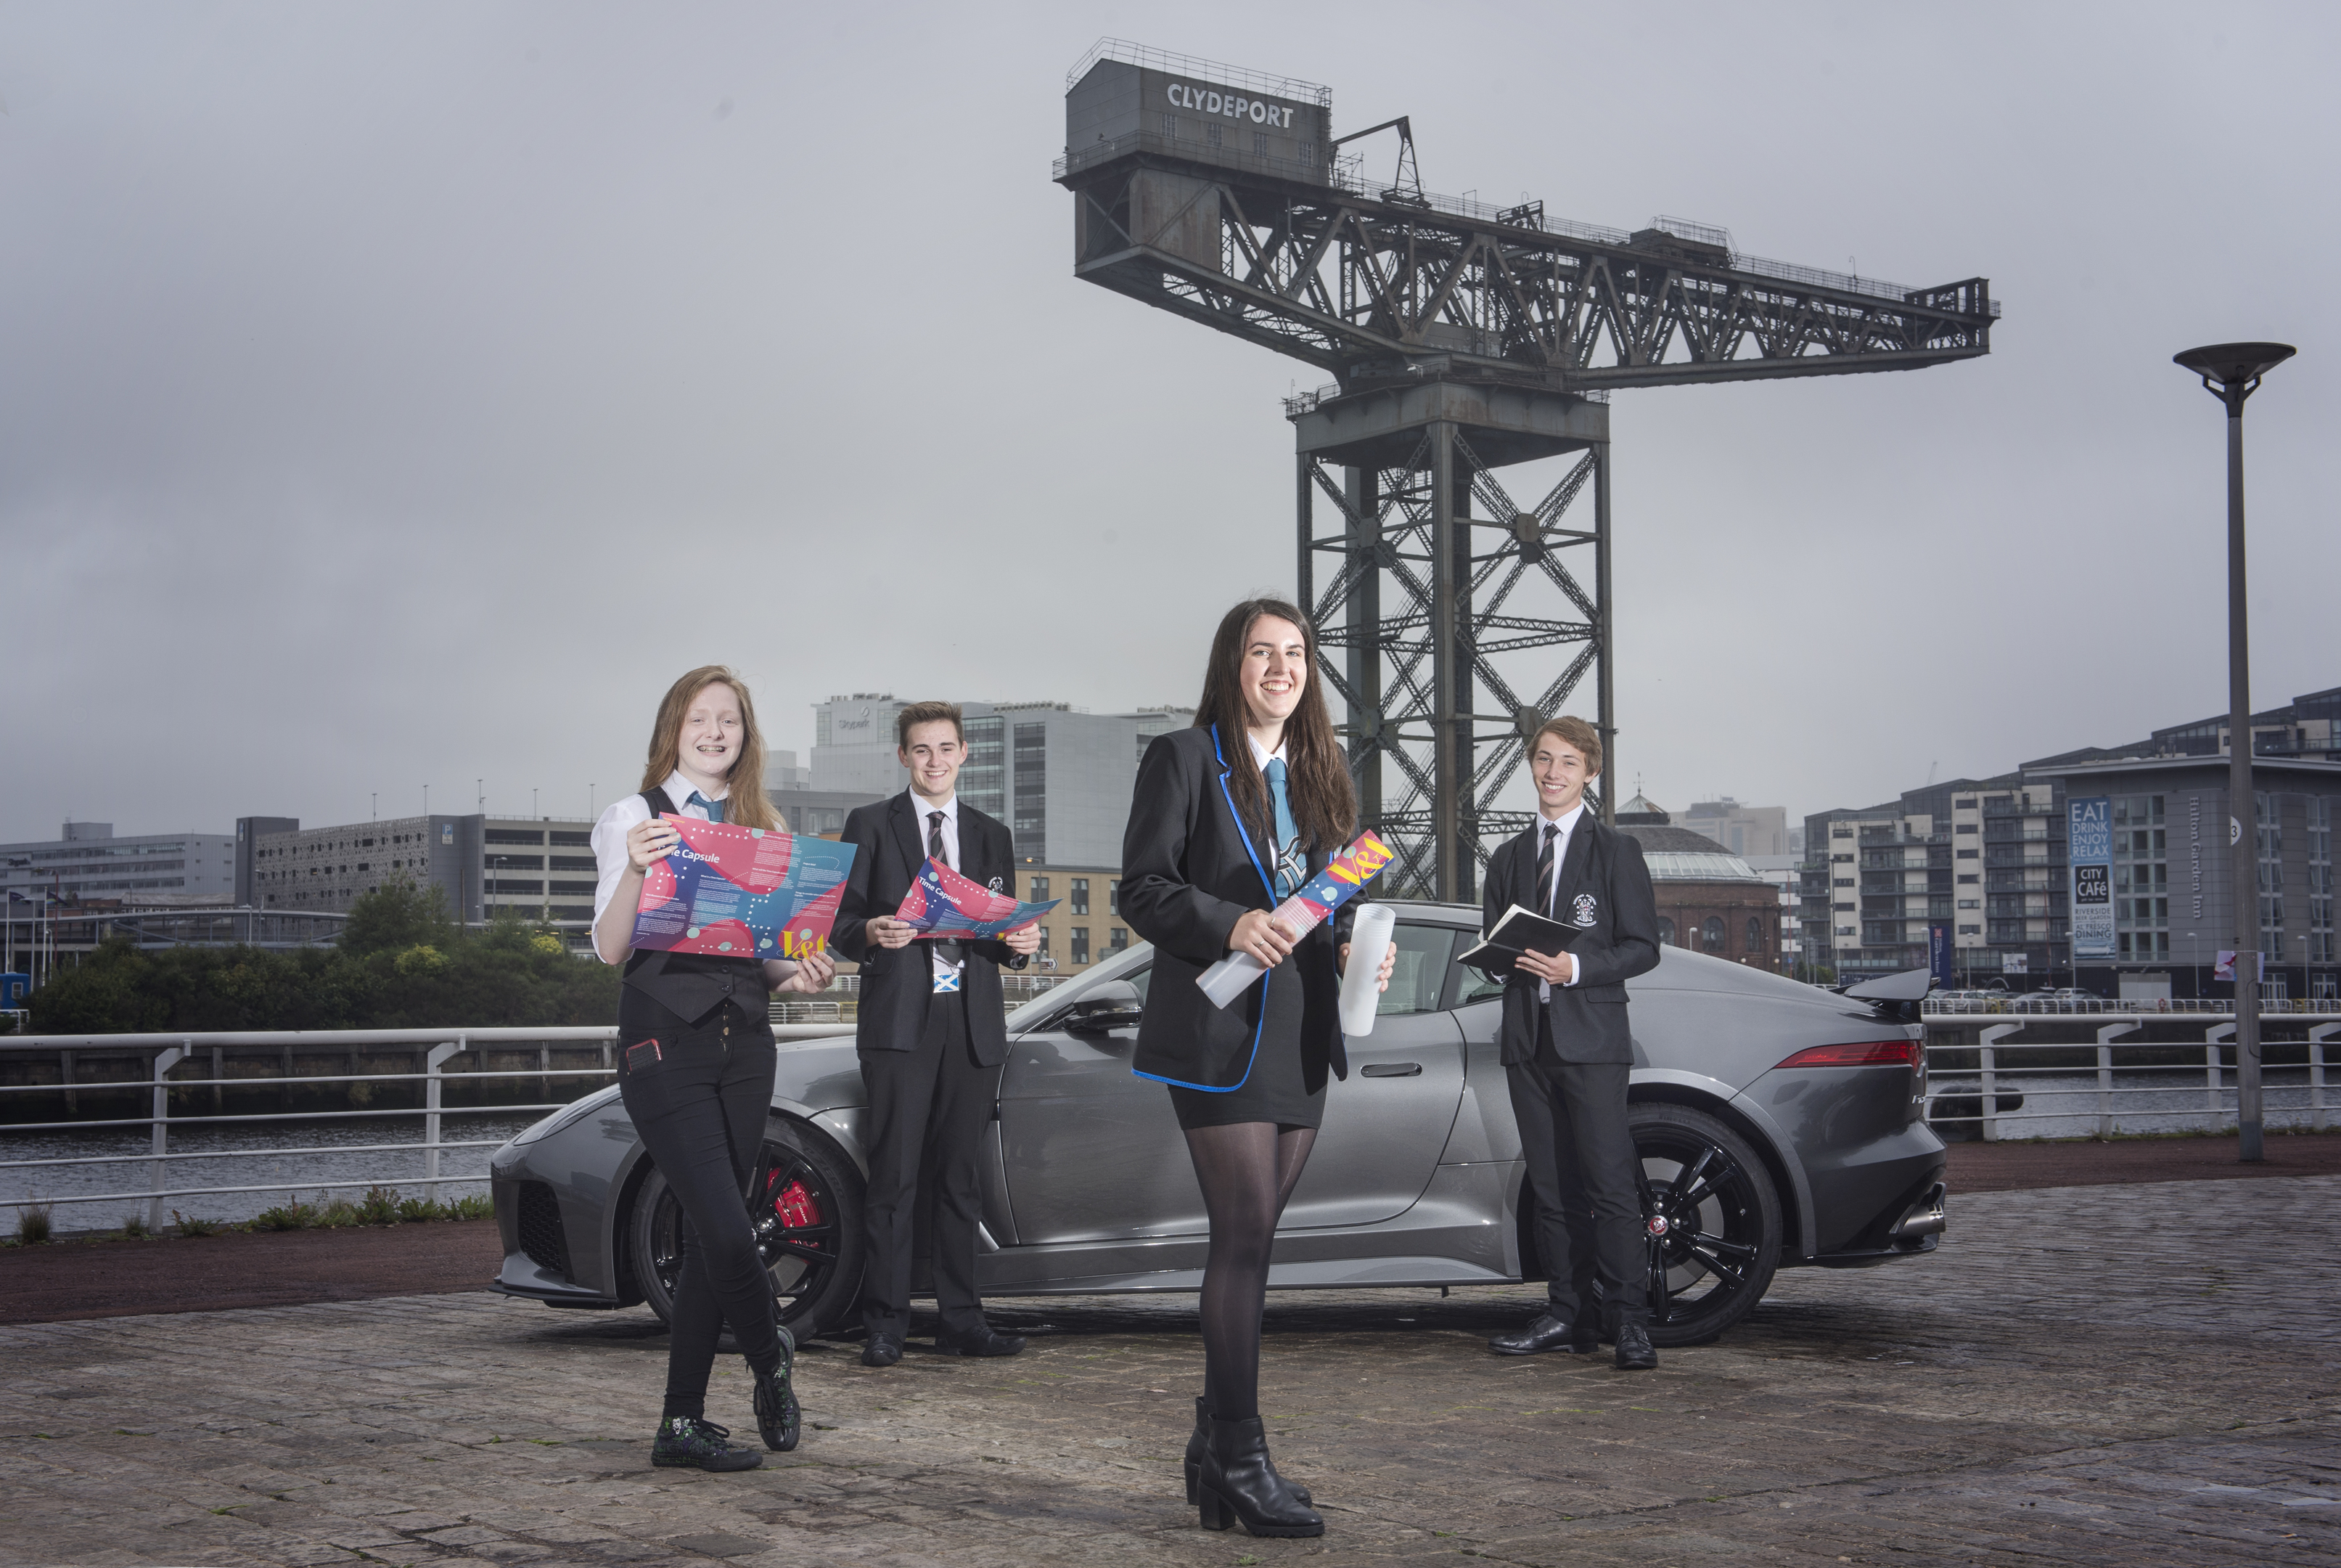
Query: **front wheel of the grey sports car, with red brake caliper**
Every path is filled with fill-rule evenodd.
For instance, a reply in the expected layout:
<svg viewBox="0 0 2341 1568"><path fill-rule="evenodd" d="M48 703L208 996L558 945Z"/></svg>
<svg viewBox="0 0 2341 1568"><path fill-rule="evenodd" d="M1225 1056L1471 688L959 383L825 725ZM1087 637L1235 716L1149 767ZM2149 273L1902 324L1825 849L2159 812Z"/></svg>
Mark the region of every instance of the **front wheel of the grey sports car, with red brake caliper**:
<svg viewBox="0 0 2341 1568"><path fill-rule="evenodd" d="M847 1322L861 1285L861 1172L817 1128L773 1116L749 1191L780 1322L798 1339ZM651 1170L634 1198L630 1247L641 1294L663 1322L674 1322L684 1275L681 1222L674 1189ZM723 1348L733 1348L730 1334Z"/></svg>

